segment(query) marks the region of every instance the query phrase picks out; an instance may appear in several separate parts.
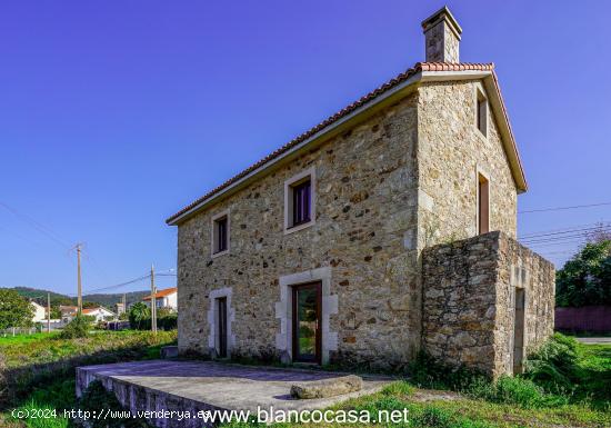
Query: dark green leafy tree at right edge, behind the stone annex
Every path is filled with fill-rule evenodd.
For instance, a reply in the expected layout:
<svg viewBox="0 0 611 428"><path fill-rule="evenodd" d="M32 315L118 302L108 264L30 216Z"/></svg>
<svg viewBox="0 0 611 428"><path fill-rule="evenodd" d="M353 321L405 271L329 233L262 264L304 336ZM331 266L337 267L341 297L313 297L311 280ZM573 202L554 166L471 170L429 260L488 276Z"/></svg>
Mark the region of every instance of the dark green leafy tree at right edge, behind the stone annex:
<svg viewBox="0 0 611 428"><path fill-rule="evenodd" d="M611 240L587 243L555 276L557 306L611 305Z"/></svg>

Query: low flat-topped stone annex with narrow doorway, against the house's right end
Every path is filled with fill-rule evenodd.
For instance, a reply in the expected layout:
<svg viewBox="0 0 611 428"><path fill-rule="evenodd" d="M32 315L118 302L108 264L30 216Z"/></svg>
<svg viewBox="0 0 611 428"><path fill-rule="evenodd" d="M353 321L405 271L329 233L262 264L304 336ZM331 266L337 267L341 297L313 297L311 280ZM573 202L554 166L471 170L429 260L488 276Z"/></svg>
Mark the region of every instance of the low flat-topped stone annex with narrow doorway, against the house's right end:
<svg viewBox="0 0 611 428"><path fill-rule="evenodd" d="M514 358L553 332L553 265L502 232L427 248L422 276L423 349L444 364L512 374ZM517 289L524 296L518 328Z"/></svg>

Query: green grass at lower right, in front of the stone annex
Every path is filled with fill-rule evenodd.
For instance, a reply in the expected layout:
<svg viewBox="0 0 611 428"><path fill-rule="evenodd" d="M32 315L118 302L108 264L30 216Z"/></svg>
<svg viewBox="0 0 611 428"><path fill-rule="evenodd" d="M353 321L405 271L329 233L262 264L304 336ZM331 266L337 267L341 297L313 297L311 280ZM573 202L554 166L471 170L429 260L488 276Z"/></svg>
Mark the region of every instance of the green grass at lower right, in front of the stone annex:
<svg viewBox="0 0 611 428"><path fill-rule="evenodd" d="M408 425L370 424L380 427L611 426L611 346L582 345L557 335L530 358L530 362L537 362L531 364L523 376L501 377L491 382L478 372L449 369L421 356L411 367L412 377L409 380L395 381L378 394L359 397L331 409L365 411L372 419L379 410L408 409ZM241 424L226 427L256 426L258 425Z"/></svg>

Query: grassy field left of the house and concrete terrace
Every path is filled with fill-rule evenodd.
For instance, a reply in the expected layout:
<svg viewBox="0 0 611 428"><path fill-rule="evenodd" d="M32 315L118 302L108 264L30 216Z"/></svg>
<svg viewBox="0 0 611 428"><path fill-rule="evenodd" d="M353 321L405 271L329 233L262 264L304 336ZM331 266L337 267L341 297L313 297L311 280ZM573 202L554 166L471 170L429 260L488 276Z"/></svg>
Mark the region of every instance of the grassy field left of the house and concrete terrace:
<svg viewBox="0 0 611 428"><path fill-rule="evenodd" d="M4 389L0 411L17 408L70 409L76 406L74 368L78 366L159 358L162 346L176 341L176 331L96 331L87 338L62 339L57 334L0 338ZM0 414L0 426L64 428L64 418L16 420Z"/></svg>

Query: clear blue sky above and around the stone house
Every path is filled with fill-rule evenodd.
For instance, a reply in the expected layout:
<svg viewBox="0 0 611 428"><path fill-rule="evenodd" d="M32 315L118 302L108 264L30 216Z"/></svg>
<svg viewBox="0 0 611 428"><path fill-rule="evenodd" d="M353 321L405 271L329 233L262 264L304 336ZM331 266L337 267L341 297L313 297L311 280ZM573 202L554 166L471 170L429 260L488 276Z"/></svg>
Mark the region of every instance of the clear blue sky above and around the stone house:
<svg viewBox="0 0 611 428"><path fill-rule="evenodd" d="M176 267L164 218L423 60L420 22L442 4L2 1L0 286L73 293L79 241L86 292ZM611 201L611 2L448 4L461 60L497 64L519 209ZM519 232L609 220L522 213ZM561 262L577 245L539 250Z"/></svg>

